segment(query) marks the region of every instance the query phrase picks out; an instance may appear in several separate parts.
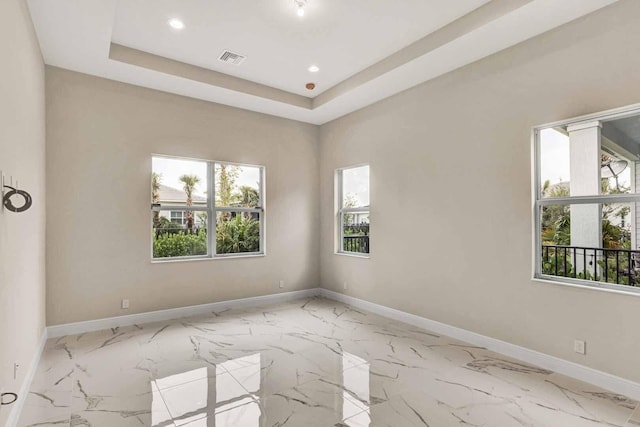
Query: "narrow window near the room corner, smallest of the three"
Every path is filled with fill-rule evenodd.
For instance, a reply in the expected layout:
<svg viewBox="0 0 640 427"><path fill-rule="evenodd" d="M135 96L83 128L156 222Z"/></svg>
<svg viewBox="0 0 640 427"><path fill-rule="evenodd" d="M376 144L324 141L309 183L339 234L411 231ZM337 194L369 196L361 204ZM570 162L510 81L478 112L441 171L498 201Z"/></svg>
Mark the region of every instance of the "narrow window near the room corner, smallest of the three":
<svg viewBox="0 0 640 427"><path fill-rule="evenodd" d="M369 253L369 166L338 169L338 252Z"/></svg>

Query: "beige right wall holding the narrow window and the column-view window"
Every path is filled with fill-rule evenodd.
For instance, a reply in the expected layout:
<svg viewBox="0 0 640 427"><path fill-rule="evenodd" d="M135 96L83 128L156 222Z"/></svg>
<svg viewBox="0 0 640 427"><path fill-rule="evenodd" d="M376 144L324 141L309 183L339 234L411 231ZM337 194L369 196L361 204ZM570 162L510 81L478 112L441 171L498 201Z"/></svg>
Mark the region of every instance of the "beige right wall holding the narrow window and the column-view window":
<svg viewBox="0 0 640 427"><path fill-rule="evenodd" d="M640 381L640 296L530 279L531 128L640 102L639 22L621 1L322 126L322 286ZM363 162L371 258L334 255L333 171Z"/></svg>

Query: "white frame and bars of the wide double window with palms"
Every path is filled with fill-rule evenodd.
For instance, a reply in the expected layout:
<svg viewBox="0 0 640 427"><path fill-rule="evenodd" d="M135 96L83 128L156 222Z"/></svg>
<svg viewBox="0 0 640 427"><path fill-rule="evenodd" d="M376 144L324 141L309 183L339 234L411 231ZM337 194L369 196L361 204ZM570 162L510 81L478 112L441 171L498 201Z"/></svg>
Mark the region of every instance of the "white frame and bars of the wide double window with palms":
<svg viewBox="0 0 640 427"><path fill-rule="evenodd" d="M167 263L167 262L179 262L179 261L196 261L196 260L212 260L212 259L226 259L226 258L251 258L251 257L263 257L266 256L266 216L265 216L265 176L266 167L264 165L254 165L248 163L236 163L221 160L204 160L196 159L192 157L171 156L167 154L152 154L151 159L155 157L162 157L166 159L176 160L190 160L196 162L203 162L207 164L207 203L206 206L176 206L176 205L161 205L156 206L151 202L151 262L152 263ZM216 207L216 180L215 180L215 168L216 165L238 166L238 167L252 167L259 170L259 183L258 183L258 206L255 208L245 207ZM152 171L153 172L153 168ZM152 185L150 181L150 186ZM204 255L190 255L190 256L176 256L176 257L161 257L156 258L153 256L153 213L162 211L191 211L191 212L205 212L207 214L207 253ZM255 212L258 213L259 230L260 230L260 250L257 252L239 252L230 254L217 254L216 248L216 236L217 236L217 213L218 212Z"/></svg>

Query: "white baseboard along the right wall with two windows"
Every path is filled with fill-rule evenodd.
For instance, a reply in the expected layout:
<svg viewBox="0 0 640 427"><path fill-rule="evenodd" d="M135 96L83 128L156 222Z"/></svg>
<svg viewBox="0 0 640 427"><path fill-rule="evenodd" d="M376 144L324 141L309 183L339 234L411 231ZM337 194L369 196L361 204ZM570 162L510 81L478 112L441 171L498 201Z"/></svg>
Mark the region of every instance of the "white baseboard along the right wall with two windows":
<svg viewBox="0 0 640 427"><path fill-rule="evenodd" d="M549 356L548 354L530 350L525 347L520 347L515 344L510 344L505 341L500 341L495 338L467 331L466 329L436 322L435 320L426 319L404 311L344 295L339 292L320 289L319 293L325 298L349 304L354 307L427 329L437 334L446 335L469 344L485 347L491 351L495 351L496 353L504 354L506 356L531 363L532 365L596 385L605 390L610 390L614 393L619 393L631 397L632 399L640 400L640 384L636 382L554 356Z"/></svg>

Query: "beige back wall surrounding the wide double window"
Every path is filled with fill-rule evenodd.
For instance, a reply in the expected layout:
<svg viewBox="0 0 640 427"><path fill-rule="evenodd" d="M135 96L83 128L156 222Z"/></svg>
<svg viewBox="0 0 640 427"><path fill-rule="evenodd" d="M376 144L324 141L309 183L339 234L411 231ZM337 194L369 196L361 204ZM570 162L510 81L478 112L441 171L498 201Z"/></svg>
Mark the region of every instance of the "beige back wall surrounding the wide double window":
<svg viewBox="0 0 640 427"><path fill-rule="evenodd" d="M46 75L49 325L318 286L317 127ZM264 165L267 256L152 264L152 153Z"/></svg>

